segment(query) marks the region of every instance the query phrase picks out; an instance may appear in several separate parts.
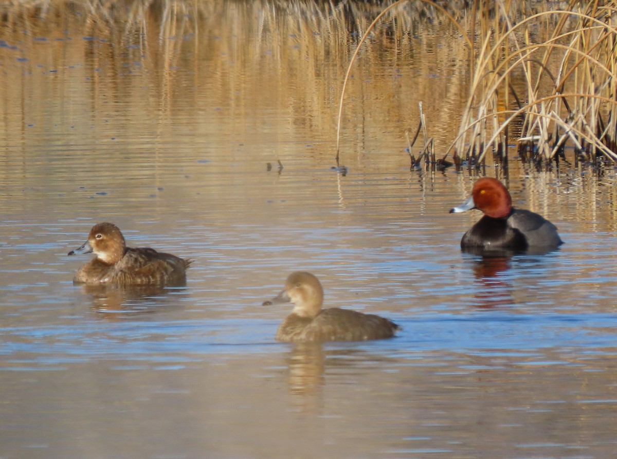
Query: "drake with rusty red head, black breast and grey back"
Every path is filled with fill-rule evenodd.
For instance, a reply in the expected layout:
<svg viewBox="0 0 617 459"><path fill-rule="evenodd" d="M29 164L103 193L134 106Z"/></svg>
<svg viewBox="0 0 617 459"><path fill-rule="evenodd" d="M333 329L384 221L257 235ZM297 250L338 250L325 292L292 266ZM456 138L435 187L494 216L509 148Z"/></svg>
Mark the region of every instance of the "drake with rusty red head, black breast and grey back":
<svg viewBox="0 0 617 459"><path fill-rule="evenodd" d="M484 217L463 235L463 250L545 252L563 244L557 228L549 220L529 210L514 209L507 188L495 178L476 181L470 198L450 213L470 209L481 210Z"/></svg>

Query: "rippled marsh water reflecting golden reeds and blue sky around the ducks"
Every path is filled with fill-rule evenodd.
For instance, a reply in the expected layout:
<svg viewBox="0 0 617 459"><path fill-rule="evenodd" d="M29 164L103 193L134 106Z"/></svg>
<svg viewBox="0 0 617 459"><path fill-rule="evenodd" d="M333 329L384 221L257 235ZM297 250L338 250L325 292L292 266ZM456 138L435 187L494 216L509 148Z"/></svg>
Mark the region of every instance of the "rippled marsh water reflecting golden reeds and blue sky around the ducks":
<svg viewBox="0 0 617 459"><path fill-rule="evenodd" d="M3 17L0 458L615 457L615 169L513 157L514 204L566 243L463 254L478 173L405 152L418 102L437 151L457 130L452 27L411 10L366 43L343 174L376 13L200 7ZM100 221L192 258L186 287L73 285ZM402 331L276 342L294 270Z"/></svg>

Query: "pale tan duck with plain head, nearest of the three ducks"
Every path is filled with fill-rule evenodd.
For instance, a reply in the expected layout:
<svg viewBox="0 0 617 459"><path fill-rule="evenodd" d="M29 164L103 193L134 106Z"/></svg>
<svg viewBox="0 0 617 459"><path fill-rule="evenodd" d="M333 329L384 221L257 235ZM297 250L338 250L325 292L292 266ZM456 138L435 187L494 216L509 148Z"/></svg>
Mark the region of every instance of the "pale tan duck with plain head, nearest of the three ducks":
<svg viewBox="0 0 617 459"><path fill-rule="evenodd" d="M390 338L400 328L373 314L340 308L321 309L321 283L305 271L291 273L284 290L263 305L286 302L292 302L294 309L276 331L278 341L365 341Z"/></svg>

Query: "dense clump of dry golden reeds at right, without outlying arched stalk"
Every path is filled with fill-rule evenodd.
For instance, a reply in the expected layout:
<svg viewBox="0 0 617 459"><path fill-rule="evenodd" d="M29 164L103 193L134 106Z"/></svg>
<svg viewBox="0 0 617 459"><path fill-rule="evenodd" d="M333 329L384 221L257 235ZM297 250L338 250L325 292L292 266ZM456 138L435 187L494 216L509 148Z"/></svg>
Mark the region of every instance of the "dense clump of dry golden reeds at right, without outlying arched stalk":
<svg viewBox="0 0 617 459"><path fill-rule="evenodd" d="M499 6L502 14L507 17L505 3L499 2ZM574 2L571 2L569 10L540 12L515 25L507 20L505 21L507 29L501 35L496 28L485 27L487 33L481 51L476 54L474 62L476 70L473 73L471 91L459 134L450 146L450 149L455 148L455 155L464 151L465 139L470 138L473 141L470 141L467 147L466 157L471 155L476 159L476 163L482 162L490 149L499 151L499 139L502 138L508 125L520 115L524 115L521 138L535 143L535 151L543 152L541 157L545 162L550 162L558 147L563 147L568 140L576 146L577 151L582 149L584 141L592 147L592 150L597 150L607 159L617 162L615 152L617 51L614 46L617 27L609 22L612 21L615 8L591 7L587 12L578 12L573 10L573 6ZM529 44L528 25L537 20L558 16L562 19L576 17L578 23L572 30L564 31L565 20L560 20L552 38L544 43ZM520 35L528 43L526 46L518 44L516 35L520 31L522 31ZM594 32L600 33L600 36L590 40L590 35ZM569 44L558 43L568 37L571 38ZM489 48L488 44L491 42L494 44ZM516 49L510 51L507 43L513 43ZM532 54L539 50L544 50L542 60L532 59ZM557 51L563 54L557 72L554 72L557 77L552 77L550 59ZM576 56L575 62L568 64L573 56ZM539 68L535 81L531 64L536 64ZM499 94L508 94L510 90L508 80L511 76L513 78L513 74L518 70L523 72L527 103L513 112L498 110ZM539 94L545 74L549 75L553 82L549 96ZM600 78L603 80L598 82ZM565 90L569 87L573 89ZM568 104L568 99L573 99L575 103ZM602 107L602 104L598 103L600 101L604 102L606 107ZM565 119L562 116L564 111L562 103L565 105ZM512 115L499 123L500 115L508 113ZM608 118L606 125L603 125L604 117ZM580 127L573 126L574 122ZM564 132L560 134L560 130ZM502 139L502 144L505 144L505 141ZM548 145L551 141L553 147Z"/></svg>

